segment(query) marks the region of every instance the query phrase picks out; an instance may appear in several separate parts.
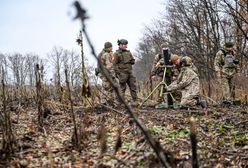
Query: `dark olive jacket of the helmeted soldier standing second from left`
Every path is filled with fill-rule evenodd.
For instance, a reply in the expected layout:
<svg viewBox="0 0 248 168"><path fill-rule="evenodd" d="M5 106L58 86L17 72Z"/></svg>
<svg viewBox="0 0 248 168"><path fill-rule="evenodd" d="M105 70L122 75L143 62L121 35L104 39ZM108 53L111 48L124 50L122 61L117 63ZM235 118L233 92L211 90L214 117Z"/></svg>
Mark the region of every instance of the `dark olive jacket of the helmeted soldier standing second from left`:
<svg viewBox="0 0 248 168"><path fill-rule="evenodd" d="M135 59L129 50L118 49L114 53L113 67L115 73L132 72Z"/></svg>

